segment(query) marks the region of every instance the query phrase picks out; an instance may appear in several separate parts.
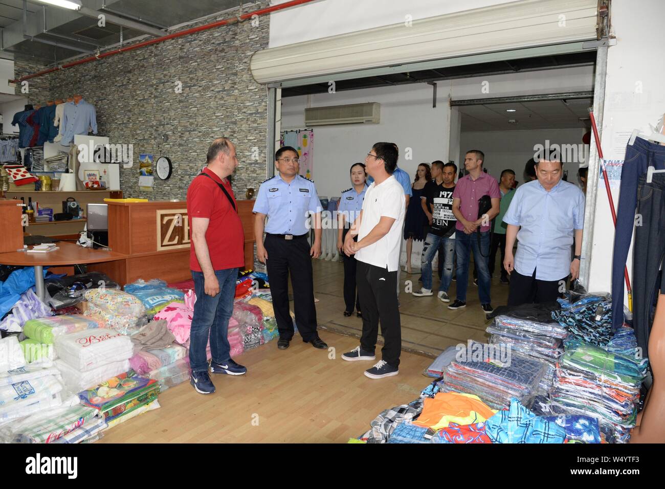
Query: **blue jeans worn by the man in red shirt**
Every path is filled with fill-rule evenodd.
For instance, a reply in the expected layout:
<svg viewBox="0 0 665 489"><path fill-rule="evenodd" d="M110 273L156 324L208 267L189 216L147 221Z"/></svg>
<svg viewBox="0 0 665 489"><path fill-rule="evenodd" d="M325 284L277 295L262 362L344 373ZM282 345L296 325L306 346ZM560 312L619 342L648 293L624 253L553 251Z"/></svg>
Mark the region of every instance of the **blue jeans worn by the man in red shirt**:
<svg viewBox="0 0 665 489"><path fill-rule="evenodd" d="M192 331L190 332L190 367L192 367L192 372L207 371L208 363L205 350L208 337L213 362L224 363L230 358L229 319L233 314L233 298L235 297L235 281L238 278L238 269L215 270L215 276L219 281L219 293L212 297L205 293L203 273L192 270L194 291L196 292Z"/></svg>

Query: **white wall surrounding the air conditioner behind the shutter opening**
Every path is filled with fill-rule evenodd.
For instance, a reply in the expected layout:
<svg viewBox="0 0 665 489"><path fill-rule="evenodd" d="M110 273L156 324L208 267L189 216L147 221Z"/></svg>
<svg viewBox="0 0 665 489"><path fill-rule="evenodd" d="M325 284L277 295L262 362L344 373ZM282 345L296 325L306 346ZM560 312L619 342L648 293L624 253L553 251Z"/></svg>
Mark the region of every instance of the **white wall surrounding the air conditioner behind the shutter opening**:
<svg viewBox="0 0 665 489"><path fill-rule="evenodd" d="M395 142L400 168L415 176L421 162L448 157L450 105L448 92L437 91L432 108L432 86L412 84L311 95L311 106L381 104L380 124L315 126L313 180L321 196L338 196L350 187L349 168L364 162L372 144ZM282 130L305 126L307 96L288 97L282 104ZM407 148L412 158L406 159Z"/></svg>

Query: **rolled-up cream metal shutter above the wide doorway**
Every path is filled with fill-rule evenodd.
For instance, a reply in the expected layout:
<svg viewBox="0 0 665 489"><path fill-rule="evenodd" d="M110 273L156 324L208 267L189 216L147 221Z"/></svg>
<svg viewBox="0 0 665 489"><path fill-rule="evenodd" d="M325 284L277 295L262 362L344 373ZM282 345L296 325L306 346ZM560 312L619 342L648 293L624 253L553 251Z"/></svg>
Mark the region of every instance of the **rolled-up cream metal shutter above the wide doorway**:
<svg viewBox="0 0 665 489"><path fill-rule="evenodd" d="M596 39L597 0L520 0L257 51L259 83Z"/></svg>

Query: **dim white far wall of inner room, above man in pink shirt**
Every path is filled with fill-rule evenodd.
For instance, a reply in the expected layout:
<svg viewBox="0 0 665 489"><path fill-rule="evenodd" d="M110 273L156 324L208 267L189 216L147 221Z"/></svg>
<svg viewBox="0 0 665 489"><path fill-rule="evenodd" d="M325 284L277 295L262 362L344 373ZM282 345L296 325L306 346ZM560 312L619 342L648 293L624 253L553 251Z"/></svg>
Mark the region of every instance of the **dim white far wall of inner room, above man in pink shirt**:
<svg viewBox="0 0 665 489"><path fill-rule="evenodd" d="M518 131L487 131L462 132L460 139L460 154L453 158L460 166L467 150L481 150L485 153L484 166L487 172L497 178L507 168L515 170L515 178L524 182L524 166L527 160L533 158L533 147L536 144L545 146L545 140L550 144L581 144L585 130L555 129L555 130L518 130ZM568 170L568 181L577 184L577 170L579 162L565 162L563 169Z"/></svg>

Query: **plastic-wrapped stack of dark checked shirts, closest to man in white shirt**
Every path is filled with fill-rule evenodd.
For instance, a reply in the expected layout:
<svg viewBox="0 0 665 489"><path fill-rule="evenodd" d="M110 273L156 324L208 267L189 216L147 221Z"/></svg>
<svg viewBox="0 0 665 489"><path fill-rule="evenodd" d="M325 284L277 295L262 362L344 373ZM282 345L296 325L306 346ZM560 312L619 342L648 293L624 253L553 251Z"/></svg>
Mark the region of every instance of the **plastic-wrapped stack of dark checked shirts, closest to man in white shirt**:
<svg viewBox="0 0 665 489"><path fill-rule="evenodd" d="M451 363L444 373L444 391L469 393L478 395L485 404L492 408L507 407L510 399L515 397L527 402L537 393L538 386L547 373L547 363L511 353L509 362L499 367L496 363L485 361L495 358L495 353L487 347L498 345L484 345L473 343L473 348L480 347L487 352L479 359L466 359ZM503 361L503 359L501 359ZM494 360L496 362L496 360Z"/></svg>

